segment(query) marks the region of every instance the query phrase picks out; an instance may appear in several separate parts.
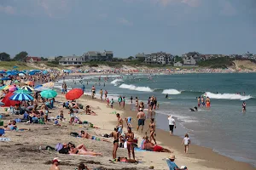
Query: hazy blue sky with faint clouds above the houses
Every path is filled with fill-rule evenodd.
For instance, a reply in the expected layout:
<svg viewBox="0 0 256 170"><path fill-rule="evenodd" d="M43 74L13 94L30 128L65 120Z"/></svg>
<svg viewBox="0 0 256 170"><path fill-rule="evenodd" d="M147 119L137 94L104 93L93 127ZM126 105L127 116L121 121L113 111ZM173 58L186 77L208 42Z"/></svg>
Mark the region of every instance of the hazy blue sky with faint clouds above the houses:
<svg viewBox="0 0 256 170"><path fill-rule="evenodd" d="M256 0L0 0L0 23L12 57L256 54Z"/></svg>

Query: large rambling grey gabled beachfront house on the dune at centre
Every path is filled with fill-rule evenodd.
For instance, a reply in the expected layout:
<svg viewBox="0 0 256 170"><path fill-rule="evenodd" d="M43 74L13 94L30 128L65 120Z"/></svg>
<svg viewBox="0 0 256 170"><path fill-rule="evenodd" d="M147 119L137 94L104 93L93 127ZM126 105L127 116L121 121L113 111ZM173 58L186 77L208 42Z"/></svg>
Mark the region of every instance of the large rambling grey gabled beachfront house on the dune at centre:
<svg viewBox="0 0 256 170"><path fill-rule="evenodd" d="M146 64L168 65L172 63L173 55L165 52L153 54L136 54L135 59L142 59Z"/></svg>

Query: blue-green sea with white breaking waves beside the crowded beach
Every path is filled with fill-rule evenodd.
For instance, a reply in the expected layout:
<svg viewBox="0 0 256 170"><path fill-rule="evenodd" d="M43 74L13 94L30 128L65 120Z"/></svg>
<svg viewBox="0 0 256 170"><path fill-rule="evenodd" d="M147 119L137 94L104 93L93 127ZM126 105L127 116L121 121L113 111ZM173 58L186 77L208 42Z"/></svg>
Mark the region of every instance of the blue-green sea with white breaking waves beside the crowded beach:
<svg viewBox="0 0 256 170"><path fill-rule="evenodd" d="M64 81L68 88L81 88L84 84L85 94L90 94L90 88L96 84L97 95L101 88L107 89L110 99L117 101L122 95L126 103L130 103L131 96L133 99L137 96L147 104L148 97L154 95L160 104L155 117L158 128L168 131L167 116L171 114L178 124L176 135L183 137L189 133L192 143L256 167L255 73L112 75L103 87L104 77L101 85L99 76ZM57 82L56 87L61 88L62 82ZM211 108L189 111L197 105L196 97L202 94L211 99ZM242 101L246 101L246 113L241 111Z"/></svg>

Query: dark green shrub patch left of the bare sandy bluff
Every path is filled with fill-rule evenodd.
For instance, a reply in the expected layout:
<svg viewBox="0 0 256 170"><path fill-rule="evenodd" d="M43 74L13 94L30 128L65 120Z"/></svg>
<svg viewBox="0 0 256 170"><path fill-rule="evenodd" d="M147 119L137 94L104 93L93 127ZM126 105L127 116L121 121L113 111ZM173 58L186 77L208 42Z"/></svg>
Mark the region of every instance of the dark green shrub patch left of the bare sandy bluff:
<svg viewBox="0 0 256 170"><path fill-rule="evenodd" d="M230 59L227 57L220 57L216 59L207 59L205 61L200 61L198 65L201 67L207 67L212 69L216 69L216 68L225 69L225 68L228 68L229 66L234 65L233 60L234 59Z"/></svg>

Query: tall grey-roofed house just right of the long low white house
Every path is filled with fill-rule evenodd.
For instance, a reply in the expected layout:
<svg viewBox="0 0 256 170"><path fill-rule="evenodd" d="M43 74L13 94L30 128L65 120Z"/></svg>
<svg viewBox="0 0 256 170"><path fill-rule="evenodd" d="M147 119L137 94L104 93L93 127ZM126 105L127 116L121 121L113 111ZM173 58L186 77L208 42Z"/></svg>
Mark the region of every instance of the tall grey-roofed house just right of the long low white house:
<svg viewBox="0 0 256 170"><path fill-rule="evenodd" d="M84 53L82 58L84 61L111 61L113 59L113 52L112 51L88 51Z"/></svg>

